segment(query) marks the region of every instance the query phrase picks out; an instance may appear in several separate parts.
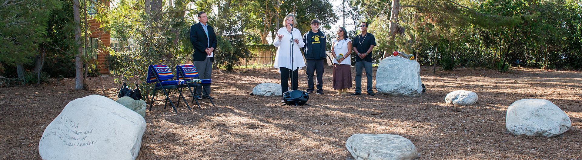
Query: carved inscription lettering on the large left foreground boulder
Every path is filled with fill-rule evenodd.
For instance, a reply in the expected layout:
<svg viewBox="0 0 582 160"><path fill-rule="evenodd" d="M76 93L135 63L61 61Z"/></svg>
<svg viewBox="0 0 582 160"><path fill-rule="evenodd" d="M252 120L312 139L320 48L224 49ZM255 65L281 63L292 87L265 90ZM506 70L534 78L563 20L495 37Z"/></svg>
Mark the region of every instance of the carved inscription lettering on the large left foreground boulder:
<svg viewBox="0 0 582 160"><path fill-rule="evenodd" d="M97 140L90 139L93 129L83 129L79 123L62 115L56 119L56 126L52 126L45 136L56 136L62 143L71 147L83 147L97 143ZM89 139L87 139L89 137Z"/></svg>

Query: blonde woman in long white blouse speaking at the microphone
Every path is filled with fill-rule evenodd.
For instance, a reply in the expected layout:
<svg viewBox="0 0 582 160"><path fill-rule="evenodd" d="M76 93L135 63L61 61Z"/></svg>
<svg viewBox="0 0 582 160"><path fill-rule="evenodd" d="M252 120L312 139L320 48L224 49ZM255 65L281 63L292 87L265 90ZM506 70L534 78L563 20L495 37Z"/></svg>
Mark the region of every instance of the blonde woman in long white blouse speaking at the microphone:
<svg viewBox="0 0 582 160"><path fill-rule="evenodd" d="M305 43L299 41L301 32L297 28L293 28L297 26L295 16L287 14L283 21L283 26L285 27L279 28L277 37L273 41L273 45L279 47L275 56L274 67L281 72L281 94L289 90L289 77L291 77L292 90L297 89L297 71L301 67L305 67L305 61L303 61L303 56L299 50Z"/></svg>

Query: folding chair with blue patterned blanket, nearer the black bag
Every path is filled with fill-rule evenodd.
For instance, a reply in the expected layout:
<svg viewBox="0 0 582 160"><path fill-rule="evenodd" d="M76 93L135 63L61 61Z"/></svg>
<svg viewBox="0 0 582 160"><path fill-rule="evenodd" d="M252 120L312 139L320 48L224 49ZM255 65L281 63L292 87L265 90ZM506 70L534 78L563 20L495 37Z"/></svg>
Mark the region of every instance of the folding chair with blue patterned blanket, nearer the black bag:
<svg viewBox="0 0 582 160"><path fill-rule="evenodd" d="M154 101L162 101L162 100L165 100L164 109L166 109L166 107L168 106L168 101L170 101L172 108L174 109L174 111L176 113L178 113L178 110L176 110L176 107L180 106L180 101L184 101L184 103L186 103L186 107L188 107L188 110L191 111L190 106L188 105L188 102L186 101L186 99L182 95L182 89L188 87L187 85L184 85L184 83L186 83L186 81L185 80L172 80L173 77L174 77L174 74L172 74L172 71L166 65L156 64L156 65L150 65L148 67L147 83L154 83L155 82L154 93L153 93L151 100L150 100L150 111L151 111L151 107L154 105ZM172 101L170 99L169 89L178 89L178 93L180 93L178 96L178 101ZM164 92L164 94L166 95L166 99L155 100L155 93L158 90L162 90ZM180 98L182 100L180 100ZM178 104L176 104L176 106L174 106L174 103L178 103Z"/></svg>

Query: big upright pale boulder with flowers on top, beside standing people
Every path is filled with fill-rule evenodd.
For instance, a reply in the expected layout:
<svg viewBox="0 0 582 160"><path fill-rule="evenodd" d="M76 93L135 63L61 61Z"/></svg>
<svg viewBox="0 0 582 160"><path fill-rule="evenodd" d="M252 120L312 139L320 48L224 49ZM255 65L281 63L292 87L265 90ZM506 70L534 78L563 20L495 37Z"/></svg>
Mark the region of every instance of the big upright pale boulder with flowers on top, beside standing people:
<svg viewBox="0 0 582 160"><path fill-rule="evenodd" d="M423 93L420 64L402 57L386 57L376 71L376 89L395 96L420 96Z"/></svg>

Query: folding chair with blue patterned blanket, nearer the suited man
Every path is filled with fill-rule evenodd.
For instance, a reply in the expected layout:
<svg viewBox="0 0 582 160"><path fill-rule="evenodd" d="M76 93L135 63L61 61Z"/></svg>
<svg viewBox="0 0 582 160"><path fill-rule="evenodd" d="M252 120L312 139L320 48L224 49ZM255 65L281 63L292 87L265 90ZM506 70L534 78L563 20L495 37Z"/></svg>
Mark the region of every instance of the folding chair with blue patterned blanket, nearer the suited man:
<svg viewBox="0 0 582 160"><path fill-rule="evenodd" d="M214 106L214 102L212 101L212 97L210 96L210 94L208 94L208 90L203 88L203 86L210 86L212 83L212 79L196 79L196 78L198 78L198 71L196 70L196 67L194 67L194 65L192 64L176 65L176 79L186 80L186 86L188 86L188 89L192 94L192 96L187 97L192 97L192 103L196 101L198 108L200 108L200 103L198 103L198 100L208 99L210 100L210 103L212 103L212 106ZM194 88L194 90L191 89L192 87ZM195 95L196 93L194 93L194 91L198 87L202 87L203 92L206 95L208 95L208 97L202 97L200 99L197 99Z"/></svg>

